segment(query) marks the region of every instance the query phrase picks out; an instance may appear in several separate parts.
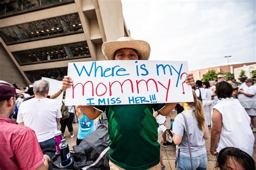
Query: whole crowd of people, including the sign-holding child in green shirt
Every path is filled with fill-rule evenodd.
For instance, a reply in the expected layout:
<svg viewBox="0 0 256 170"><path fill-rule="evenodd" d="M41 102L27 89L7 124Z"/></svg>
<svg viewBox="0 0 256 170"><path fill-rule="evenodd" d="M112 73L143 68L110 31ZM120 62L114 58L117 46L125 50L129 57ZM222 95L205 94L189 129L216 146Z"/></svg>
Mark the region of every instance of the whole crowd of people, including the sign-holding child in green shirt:
<svg viewBox="0 0 256 170"><path fill-rule="evenodd" d="M108 60L148 60L150 45L123 37L104 42L102 51ZM218 156L218 168L230 167L231 162L244 169L255 168L252 154L256 86L253 79L241 77L240 80L238 86L236 82L226 82L224 75L218 75L218 82L195 83L193 75L187 75L186 83L194 88L194 101L180 103L185 109L174 119L177 169L207 169L205 139L210 136L210 152ZM110 169L165 169L160 144L163 140L164 147L171 145L166 140L165 116L177 103L64 106L69 116L63 119L62 109L52 99L72 86L72 77L64 76L62 88L50 96L49 86L48 81L39 80L24 93L8 82L0 82L0 154L3 155L0 169L51 168L50 158L54 153L43 154L42 150L56 148L54 132L58 122L62 137L68 126L73 138L72 122L77 117L79 145L87 134L95 131L93 119L102 113L108 118Z"/></svg>

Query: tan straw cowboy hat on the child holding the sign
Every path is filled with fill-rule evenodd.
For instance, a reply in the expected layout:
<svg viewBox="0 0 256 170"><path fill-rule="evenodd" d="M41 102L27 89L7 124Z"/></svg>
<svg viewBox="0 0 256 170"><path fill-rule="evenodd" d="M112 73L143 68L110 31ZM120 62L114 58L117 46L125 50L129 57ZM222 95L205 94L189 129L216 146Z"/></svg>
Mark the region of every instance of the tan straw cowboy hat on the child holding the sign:
<svg viewBox="0 0 256 170"><path fill-rule="evenodd" d="M122 37L117 41L106 41L102 45L103 55L107 60L113 60L114 52L121 48L133 48L139 53L139 60L148 60L150 45L143 40L134 40L131 37Z"/></svg>

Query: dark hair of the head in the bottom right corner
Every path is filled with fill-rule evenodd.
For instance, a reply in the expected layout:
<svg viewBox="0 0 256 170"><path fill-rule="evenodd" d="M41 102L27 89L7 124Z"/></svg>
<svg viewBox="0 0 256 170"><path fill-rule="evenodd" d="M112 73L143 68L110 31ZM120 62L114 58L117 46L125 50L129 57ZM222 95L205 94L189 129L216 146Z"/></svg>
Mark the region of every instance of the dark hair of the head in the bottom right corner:
<svg viewBox="0 0 256 170"><path fill-rule="evenodd" d="M227 164L228 158L234 158L246 170L255 170L253 158L246 152L235 147L225 147L219 152L217 166L215 168L223 169Z"/></svg>

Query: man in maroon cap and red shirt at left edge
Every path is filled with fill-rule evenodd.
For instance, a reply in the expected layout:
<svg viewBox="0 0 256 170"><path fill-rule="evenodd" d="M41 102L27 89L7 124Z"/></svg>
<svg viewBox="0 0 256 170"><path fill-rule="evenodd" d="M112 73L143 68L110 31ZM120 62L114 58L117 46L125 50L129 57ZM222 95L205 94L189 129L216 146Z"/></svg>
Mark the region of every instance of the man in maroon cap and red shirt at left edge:
<svg viewBox="0 0 256 170"><path fill-rule="evenodd" d="M43 155L35 131L8 118L20 93L12 84L0 81L0 169L48 169L50 158Z"/></svg>

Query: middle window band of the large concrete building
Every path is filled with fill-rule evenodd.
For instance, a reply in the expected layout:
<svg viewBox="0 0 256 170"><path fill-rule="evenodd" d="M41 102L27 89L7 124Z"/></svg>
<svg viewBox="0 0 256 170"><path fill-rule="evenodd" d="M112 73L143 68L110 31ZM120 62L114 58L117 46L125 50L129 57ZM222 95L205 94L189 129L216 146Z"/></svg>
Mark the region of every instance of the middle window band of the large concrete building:
<svg viewBox="0 0 256 170"><path fill-rule="evenodd" d="M19 65L90 57L86 41L12 52Z"/></svg>

